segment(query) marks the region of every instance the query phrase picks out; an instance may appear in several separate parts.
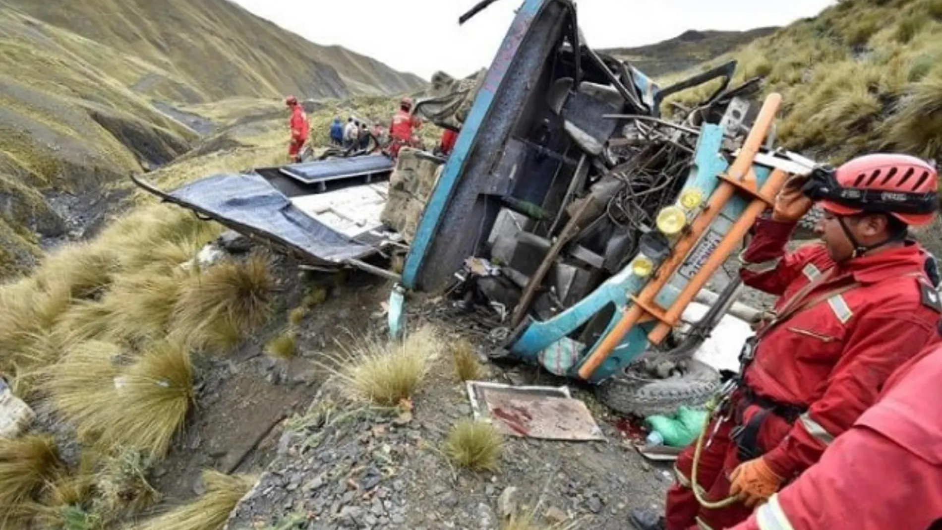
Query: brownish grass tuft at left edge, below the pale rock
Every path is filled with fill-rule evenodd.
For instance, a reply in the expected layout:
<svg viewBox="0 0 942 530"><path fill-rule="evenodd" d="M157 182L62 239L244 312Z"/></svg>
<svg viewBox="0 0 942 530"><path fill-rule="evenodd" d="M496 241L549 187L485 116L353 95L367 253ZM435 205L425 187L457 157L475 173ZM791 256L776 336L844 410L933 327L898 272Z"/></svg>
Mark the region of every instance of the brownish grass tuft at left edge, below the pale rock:
<svg viewBox="0 0 942 530"><path fill-rule="evenodd" d="M20 528L42 487L61 469L52 437L0 438L0 529Z"/></svg>

